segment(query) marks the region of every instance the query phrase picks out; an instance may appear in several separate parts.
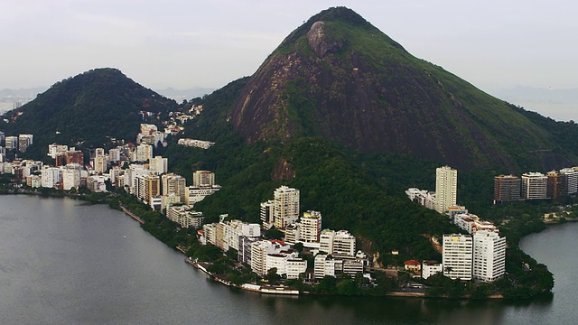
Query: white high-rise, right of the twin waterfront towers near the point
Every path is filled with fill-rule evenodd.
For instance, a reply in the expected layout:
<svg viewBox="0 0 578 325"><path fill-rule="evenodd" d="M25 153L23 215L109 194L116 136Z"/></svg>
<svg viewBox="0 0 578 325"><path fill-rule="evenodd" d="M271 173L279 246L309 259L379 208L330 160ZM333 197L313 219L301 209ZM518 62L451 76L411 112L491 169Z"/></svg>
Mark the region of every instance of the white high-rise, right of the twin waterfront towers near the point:
<svg viewBox="0 0 578 325"><path fill-rule="evenodd" d="M493 282L506 273L506 237L488 230L473 235L472 272L474 279L484 282Z"/></svg>

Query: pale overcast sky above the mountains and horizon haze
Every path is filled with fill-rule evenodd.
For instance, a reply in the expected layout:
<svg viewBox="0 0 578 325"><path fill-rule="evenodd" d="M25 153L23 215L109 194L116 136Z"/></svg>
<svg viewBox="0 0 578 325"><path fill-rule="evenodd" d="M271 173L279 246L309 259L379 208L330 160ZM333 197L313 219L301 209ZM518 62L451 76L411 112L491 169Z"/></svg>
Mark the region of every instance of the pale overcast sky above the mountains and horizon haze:
<svg viewBox="0 0 578 325"><path fill-rule="evenodd" d="M501 98L509 88L578 89L578 2L569 0L3 0L0 89L102 67L147 88L221 88L337 5ZM573 107L545 110L578 120Z"/></svg>

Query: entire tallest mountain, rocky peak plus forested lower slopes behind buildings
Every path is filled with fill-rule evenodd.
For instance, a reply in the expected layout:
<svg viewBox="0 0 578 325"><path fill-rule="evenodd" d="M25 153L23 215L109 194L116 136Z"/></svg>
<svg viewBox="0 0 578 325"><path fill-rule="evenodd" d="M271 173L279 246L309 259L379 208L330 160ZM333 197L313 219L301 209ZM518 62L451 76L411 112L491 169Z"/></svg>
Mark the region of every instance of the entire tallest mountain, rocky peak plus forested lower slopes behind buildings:
<svg viewBox="0 0 578 325"><path fill-rule="evenodd" d="M350 229L386 264L439 258L428 238L457 231L404 197L433 189L441 164L460 169L458 202L475 212L489 205L495 174L560 167L578 153L578 128L551 132L555 121L416 59L346 8L313 16L253 76L199 104L180 136L216 144L166 153L187 177L216 173L222 190L195 205L209 221L258 222L259 202L285 184L301 190L303 210L322 211L324 228Z"/></svg>

